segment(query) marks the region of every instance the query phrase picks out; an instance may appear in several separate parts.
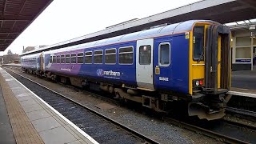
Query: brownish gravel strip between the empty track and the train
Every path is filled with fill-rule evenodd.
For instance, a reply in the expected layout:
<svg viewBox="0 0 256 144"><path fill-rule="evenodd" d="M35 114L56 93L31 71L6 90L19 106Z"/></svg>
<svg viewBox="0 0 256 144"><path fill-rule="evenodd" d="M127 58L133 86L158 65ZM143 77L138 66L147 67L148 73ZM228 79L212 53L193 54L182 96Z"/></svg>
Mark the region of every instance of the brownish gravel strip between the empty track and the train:
<svg viewBox="0 0 256 144"><path fill-rule="evenodd" d="M129 126L130 128L141 132L155 139L161 143L216 143L212 138L204 137L201 134L196 134L190 130L184 130L178 126L172 126L170 123L163 122L156 118L150 118L147 115L127 110L124 107L114 105L113 103L103 101L99 98L94 98L90 94L85 94L82 90L74 89L70 86L64 86L62 84L47 82L42 78L37 78L34 75L24 74L16 71L18 74L22 74L27 78L30 78L46 87L50 87L61 94L72 98L85 106L89 106L91 109L97 110L101 114L113 118L114 120L121 122L122 124ZM102 110L96 105L108 103L114 108L108 110Z"/></svg>

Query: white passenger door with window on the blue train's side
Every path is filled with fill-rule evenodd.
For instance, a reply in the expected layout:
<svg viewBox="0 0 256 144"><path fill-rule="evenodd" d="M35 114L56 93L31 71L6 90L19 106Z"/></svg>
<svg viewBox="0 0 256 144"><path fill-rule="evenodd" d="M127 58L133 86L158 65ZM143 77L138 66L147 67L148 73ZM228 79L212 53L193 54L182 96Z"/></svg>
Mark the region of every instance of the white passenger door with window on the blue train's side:
<svg viewBox="0 0 256 144"><path fill-rule="evenodd" d="M136 80L138 87L154 90L153 85L153 38L137 41Z"/></svg>

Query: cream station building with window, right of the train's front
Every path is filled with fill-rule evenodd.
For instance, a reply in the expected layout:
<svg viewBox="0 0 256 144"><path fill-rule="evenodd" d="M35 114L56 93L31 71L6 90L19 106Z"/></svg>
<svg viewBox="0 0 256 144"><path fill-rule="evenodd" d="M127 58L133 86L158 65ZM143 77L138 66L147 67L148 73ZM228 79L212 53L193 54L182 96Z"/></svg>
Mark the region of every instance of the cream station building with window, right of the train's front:
<svg viewBox="0 0 256 144"><path fill-rule="evenodd" d="M232 70L256 70L256 19L226 24L232 30Z"/></svg>

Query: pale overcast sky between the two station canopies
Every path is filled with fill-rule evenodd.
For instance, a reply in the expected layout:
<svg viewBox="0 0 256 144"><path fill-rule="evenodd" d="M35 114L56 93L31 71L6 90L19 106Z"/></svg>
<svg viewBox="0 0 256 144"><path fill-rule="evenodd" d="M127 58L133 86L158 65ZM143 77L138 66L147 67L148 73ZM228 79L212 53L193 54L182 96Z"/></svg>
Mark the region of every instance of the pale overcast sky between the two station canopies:
<svg viewBox="0 0 256 144"><path fill-rule="evenodd" d="M52 45L104 30L133 18L145 18L199 0L54 0L5 50L21 54L23 46ZM156 3L157 2L157 3ZM2 54L2 53L1 53Z"/></svg>

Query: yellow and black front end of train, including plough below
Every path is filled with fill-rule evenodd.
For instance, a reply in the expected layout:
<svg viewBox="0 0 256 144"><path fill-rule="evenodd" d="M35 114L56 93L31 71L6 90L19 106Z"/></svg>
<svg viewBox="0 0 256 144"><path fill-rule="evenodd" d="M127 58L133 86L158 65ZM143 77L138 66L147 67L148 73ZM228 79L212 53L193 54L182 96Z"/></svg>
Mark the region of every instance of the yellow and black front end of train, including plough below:
<svg viewBox="0 0 256 144"><path fill-rule="evenodd" d="M190 35L190 116L222 118L230 96L230 29L219 23L196 23Z"/></svg>

